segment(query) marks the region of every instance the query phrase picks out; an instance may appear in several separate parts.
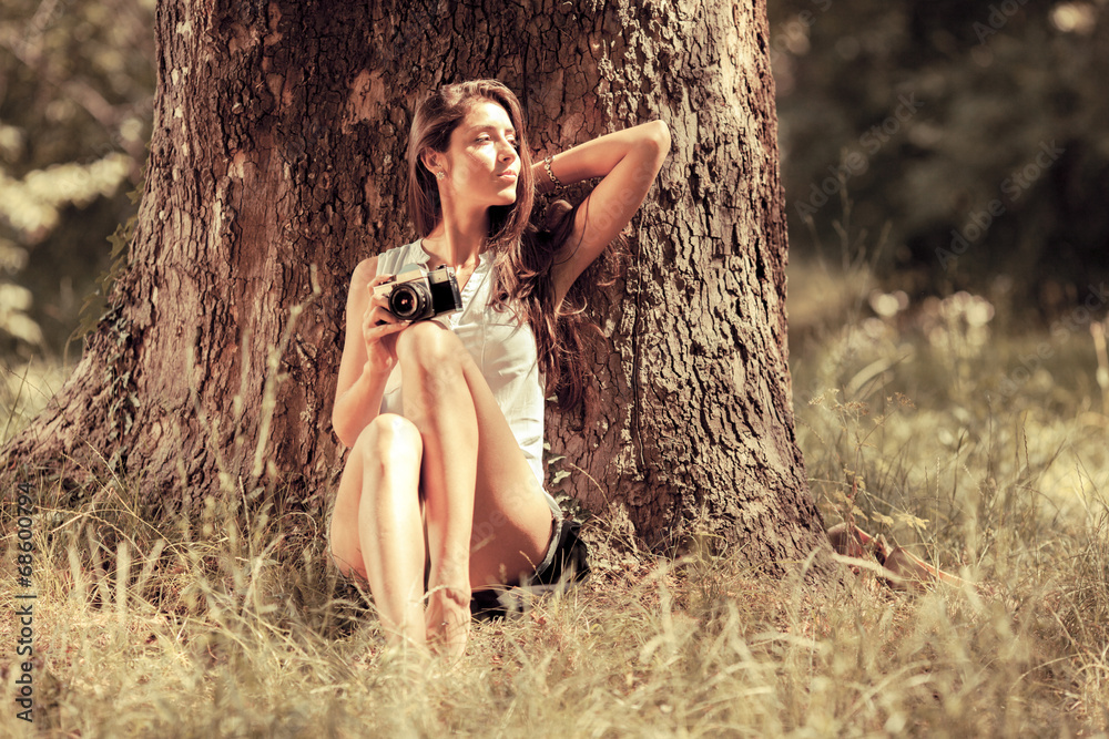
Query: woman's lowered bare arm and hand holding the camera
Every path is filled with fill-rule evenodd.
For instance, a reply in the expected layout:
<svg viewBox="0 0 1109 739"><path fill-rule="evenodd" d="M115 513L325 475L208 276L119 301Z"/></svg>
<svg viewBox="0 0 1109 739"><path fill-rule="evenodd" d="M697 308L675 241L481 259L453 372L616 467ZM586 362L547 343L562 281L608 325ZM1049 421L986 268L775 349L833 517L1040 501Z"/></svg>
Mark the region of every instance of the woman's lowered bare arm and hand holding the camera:
<svg viewBox="0 0 1109 739"><path fill-rule="evenodd" d="M332 427L346 447L354 447L381 411L385 383L397 362L394 335L408 326L385 310L384 298L370 299L374 286L386 277L377 276L377 257L362 261L350 276L346 338L332 408Z"/></svg>

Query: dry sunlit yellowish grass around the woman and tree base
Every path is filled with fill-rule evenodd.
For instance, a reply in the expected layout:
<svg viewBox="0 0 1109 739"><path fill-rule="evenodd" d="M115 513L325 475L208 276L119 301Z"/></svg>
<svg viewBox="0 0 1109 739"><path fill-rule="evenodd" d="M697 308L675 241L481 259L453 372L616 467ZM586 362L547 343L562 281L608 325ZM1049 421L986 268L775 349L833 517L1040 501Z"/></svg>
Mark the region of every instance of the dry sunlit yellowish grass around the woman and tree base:
<svg viewBox="0 0 1109 739"><path fill-rule="evenodd" d="M62 510L48 485L31 726L4 491L0 735L1106 736L1100 327L1034 329L995 301L913 305L863 268L791 267L797 435L825 522L853 517L976 586L771 579L726 553L637 551L593 519L590 582L476 624L458 664L423 663L386 649L368 599L336 582L322 522L288 536L304 522L234 496L159 522L113 479ZM6 434L63 374L4 370Z"/></svg>

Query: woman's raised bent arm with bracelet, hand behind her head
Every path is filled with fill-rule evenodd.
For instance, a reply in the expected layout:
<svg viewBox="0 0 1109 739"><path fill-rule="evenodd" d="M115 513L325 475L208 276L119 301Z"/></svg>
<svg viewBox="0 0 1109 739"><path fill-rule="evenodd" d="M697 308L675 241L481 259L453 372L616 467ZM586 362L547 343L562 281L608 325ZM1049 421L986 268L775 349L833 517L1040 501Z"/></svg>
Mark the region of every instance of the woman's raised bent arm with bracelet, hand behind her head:
<svg viewBox="0 0 1109 739"><path fill-rule="evenodd" d="M554 155L551 172L564 185L603 177L578 208L573 232L554 267L556 305L631 220L669 152L670 127L664 121L651 121ZM532 168L540 192L554 187L542 160Z"/></svg>

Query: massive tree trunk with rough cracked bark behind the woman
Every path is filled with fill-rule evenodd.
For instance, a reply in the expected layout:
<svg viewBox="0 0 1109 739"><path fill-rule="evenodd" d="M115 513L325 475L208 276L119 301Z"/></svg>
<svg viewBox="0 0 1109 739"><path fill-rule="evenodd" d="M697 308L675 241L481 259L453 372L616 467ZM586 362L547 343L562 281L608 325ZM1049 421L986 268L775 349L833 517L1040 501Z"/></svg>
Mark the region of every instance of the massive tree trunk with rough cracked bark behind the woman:
<svg viewBox="0 0 1109 739"><path fill-rule="evenodd" d="M495 76L533 151L651 117L673 131L632 264L594 307L598 423L548 415L573 465L560 484L651 546L703 533L752 563L804 557L823 534L793 431L765 4L694 6L160 2L129 265L9 469L106 463L186 506L279 483L322 515L350 273L414 237L413 111L434 86Z"/></svg>

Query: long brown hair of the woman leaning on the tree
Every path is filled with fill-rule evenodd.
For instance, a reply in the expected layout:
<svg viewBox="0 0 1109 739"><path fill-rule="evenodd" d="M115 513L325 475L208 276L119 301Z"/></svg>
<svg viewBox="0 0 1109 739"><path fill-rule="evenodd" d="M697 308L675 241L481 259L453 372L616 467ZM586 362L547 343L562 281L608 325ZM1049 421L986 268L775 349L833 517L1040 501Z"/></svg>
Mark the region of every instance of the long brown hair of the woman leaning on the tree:
<svg viewBox="0 0 1109 739"><path fill-rule="evenodd" d="M503 311L519 306L536 337L539 368L547 380L546 392L558 396L560 411L578 409L580 421L584 422L596 390L586 365L590 341L582 329L592 329L596 337L601 336L596 324L586 317L589 286L611 285L615 279L622 239L615 243L615 252L606 249L570 287L562 305L556 307L551 270L573 230L578 206L556 201L542 213L532 213L535 178L527 124L520 101L511 90L497 80L471 80L444 85L420 103L408 137L408 211L420 237L430 234L442 218L435 175L424 165L420 154L426 148L447 151L451 132L481 99L500 104L508 113L520 155L516 202L489 208L488 245L496 255L490 307Z"/></svg>

